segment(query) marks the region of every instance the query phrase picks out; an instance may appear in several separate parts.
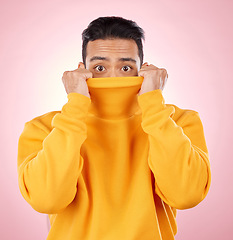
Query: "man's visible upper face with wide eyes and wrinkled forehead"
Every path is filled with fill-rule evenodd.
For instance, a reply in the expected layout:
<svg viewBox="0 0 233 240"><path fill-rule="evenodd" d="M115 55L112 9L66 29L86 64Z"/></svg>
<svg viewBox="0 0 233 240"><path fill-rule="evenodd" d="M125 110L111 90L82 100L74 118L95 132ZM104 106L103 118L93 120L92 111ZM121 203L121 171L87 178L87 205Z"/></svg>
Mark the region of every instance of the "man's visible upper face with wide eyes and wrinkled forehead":
<svg viewBox="0 0 233 240"><path fill-rule="evenodd" d="M86 69L93 78L138 76L140 58L134 40L97 39L87 44Z"/></svg>

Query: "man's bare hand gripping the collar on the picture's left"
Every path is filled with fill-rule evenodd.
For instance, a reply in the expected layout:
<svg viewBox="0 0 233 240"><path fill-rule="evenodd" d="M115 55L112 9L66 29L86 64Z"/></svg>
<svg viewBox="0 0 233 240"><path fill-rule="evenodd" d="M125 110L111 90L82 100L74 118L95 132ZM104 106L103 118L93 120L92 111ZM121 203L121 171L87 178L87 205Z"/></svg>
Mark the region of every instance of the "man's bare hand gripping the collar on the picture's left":
<svg viewBox="0 0 233 240"><path fill-rule="evenodd" d="M92 73L85 69L82 62L79 63L78 68L74 71L64 72L62 82L66 89L66 93L76 92L90 98L89 89L86 83L88 78L92 78Z"/></svg>

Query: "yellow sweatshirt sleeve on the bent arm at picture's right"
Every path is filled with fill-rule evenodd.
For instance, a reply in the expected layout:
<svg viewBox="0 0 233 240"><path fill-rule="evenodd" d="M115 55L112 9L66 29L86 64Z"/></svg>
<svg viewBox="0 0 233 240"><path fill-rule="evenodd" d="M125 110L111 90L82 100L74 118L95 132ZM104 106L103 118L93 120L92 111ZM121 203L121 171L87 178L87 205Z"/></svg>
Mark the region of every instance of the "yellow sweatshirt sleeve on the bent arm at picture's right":
<svg viewBox="0 0 233 240"><path fill-rule="evenodd" d="M138 96L138 103L141 126L148 134L148 164L156 194L174 208L194 207L207 195L211 181L199 114L183 110L175 122L175 108L165 105L161 89Z"/></svg>

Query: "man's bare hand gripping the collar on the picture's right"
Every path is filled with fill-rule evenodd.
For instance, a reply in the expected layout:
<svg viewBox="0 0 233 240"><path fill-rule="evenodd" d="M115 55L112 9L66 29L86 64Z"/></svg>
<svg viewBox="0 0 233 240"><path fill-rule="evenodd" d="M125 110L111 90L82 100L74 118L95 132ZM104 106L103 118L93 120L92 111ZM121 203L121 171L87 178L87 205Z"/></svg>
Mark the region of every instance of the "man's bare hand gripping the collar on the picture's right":
<svg viewBox="0 0 233 240"><path fill-rule="evenodd" d="M164 68L157 68L154 65L144 63L138 72L138 76L144 77L138 96L156 89L163 90L167 81L167 71Z"/></svg>

